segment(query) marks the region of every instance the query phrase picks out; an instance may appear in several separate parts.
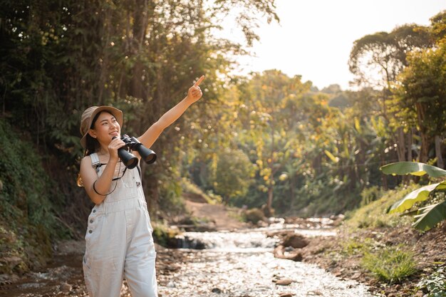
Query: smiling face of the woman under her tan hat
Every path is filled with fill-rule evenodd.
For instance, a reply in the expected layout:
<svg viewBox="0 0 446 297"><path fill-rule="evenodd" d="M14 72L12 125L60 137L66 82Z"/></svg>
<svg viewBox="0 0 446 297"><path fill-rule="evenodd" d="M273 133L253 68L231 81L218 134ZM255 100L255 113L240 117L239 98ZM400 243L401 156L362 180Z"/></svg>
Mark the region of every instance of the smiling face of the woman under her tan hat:
<svg viewBox="0 0 446 297"><path fill-rule="evenodd" d="M88 132L91 137L98 140L99 143L108 145L113 137L120 137L121 127L115 117L103 111L98 115L98 119L95 121L93 129Z"/></svg>

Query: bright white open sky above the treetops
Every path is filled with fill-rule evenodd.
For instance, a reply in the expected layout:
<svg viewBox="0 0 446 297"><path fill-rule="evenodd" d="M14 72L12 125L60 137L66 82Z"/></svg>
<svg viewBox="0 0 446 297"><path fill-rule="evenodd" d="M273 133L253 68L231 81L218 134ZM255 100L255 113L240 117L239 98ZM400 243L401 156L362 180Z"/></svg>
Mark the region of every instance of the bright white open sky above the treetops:
<svg viewBox="0 0 446 297"><path fill-rule="evenodd" d="M403 24L429 25L444 9L446 0L276 0L280 25L257 29L256 57L239 58L240 73L276 68L319 89L338 83L345 90L354 41Z"/></svg>

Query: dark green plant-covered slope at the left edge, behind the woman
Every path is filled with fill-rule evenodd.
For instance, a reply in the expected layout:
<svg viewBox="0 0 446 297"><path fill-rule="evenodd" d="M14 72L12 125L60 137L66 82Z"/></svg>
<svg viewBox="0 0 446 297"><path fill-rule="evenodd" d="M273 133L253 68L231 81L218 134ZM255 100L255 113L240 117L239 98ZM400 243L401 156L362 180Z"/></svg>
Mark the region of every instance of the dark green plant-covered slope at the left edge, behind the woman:
<svg viewBox="0 0 446 297"><path fill-rule="evenodd" d="M51 256L51 239L68 236L56 217L58 186L43 170L33 143L18 136L0 120L0 256L23 261L16 267L2 266L3 273L41 266Z"/></svg>

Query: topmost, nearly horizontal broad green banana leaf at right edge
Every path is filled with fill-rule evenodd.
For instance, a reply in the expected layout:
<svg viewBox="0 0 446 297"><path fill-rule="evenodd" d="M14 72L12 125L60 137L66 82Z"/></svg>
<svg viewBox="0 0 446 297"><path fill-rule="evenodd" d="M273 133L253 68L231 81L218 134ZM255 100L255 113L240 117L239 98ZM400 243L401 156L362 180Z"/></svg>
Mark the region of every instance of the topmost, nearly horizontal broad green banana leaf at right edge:
<svg viewBox="0 0 446 297"><path fill-rule="evenodd" d="M380 170L385 174L394 175L412 174L421 176L427 173L430 177L446 177L446 170L420 162L395 162L380 167Z"/></svg>

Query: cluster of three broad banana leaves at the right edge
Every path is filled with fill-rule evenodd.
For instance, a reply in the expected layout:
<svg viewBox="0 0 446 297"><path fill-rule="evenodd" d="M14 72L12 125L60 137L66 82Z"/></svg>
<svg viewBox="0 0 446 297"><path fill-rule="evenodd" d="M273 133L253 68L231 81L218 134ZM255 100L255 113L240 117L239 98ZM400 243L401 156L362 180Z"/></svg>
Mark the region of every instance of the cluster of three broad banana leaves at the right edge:
<svg viewBox="0 0 446 297"><path fill-rule="evenodd" d="M385 165L381 167L381 169L386 174L413 174L421 176L427 173L430 174L431 177L446 177L446 170L418 162L398 162ZM446 181L420 187L407 194L403 199L395 202L395 204L388 209L388 212L404 212L405 210L412 208L415 202L421 202L429 198L431 192L444 189L446 189ZM446 202L439 202L437 204L428 205L427 207L422 207L418 209L416 213L418 215L415 216L416 221L413 226L420 231L427 231L437 223L446 219Z"/></svg>

